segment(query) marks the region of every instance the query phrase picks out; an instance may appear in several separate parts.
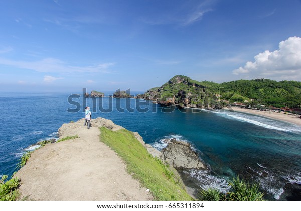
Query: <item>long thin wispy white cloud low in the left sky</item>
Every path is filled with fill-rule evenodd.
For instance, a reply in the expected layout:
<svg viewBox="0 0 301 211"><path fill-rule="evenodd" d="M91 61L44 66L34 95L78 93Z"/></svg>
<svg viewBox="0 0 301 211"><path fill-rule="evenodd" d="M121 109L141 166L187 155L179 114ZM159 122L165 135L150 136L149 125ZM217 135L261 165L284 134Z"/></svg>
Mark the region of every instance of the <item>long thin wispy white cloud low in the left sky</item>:
<svg viewBox="0 0 301 211"><path fill-rule="evenodd" d="M0 58L0 64L13 66L22 69L30 69L37 72L93 72L93 73L111 73L108 68L114 63L103 63L90 66L72 66L55 58L45 58L39 61L14 61Z"/></svg>

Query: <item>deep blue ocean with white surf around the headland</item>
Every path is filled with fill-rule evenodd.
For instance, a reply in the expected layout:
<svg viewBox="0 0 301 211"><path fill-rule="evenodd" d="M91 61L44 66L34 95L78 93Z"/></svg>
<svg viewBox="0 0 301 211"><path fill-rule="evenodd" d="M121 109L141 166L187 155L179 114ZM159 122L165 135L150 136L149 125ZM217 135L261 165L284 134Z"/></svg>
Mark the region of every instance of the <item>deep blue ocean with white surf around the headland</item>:
<svg viewBox="0 0 301 211"><path fill-rule="evenodd" d="M142 92L131 94L138 93ZM91 99L80 94L0 95L0 175L12 175L23 153L38 141L57 139L58 128L83 118L89 105L92 124L96 117L110 119L137 131L159 150L166 139L191 143L208 170L184 173L202 188L226 192L227 180L239 175L260 183L266 200L301 200L300 126L245 113L164 108L134 98Z"/></svg>

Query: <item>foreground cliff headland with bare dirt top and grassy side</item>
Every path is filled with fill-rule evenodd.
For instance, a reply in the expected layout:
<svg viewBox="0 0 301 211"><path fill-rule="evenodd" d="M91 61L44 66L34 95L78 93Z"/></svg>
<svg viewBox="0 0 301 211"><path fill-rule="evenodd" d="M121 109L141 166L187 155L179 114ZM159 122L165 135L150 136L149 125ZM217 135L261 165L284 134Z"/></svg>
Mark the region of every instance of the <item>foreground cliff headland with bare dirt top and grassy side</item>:
<svg viewBox="0 0 301 211"><path fill-rule="evenodd" d="M93 119L89 130L83 123L84 119L63 124L59 128L61 142L46 144L31 154L26 165L15 175L21 179L21 198L192 199L177 172L150 156L138 133L127 131L104 118ZM65 140L75 135L78 138ZM121 149L118 151L113 143ZM130 156L130 161L124 153Z"/></svg>

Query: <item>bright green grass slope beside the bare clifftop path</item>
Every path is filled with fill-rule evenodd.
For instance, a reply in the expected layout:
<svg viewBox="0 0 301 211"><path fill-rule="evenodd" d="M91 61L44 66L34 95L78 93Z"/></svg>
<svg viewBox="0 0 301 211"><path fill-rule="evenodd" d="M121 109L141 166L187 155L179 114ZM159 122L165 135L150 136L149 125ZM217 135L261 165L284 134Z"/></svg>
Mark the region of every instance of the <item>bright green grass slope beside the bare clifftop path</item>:
<svg viewBox="0 0 301 211"><path fill-rule="evenodd" d="M100 128L100 140L126 162L128 173L150 189L154 200L192 200L168 165L150 155L133 133Z"/></svg>

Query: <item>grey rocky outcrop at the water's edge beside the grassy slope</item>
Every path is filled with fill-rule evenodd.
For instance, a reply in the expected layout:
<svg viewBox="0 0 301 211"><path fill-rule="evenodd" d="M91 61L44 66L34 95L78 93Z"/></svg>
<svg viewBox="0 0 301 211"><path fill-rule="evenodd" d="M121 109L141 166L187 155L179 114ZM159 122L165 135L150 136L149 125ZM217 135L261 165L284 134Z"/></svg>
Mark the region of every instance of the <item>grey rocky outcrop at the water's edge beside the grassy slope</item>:
<svg viewBox="0 0 301 211"><path fill-rule="evenodd" d="M187 142L171 139L167 147L162 150L163 160L177 169L207 169L198 154L191 149Z"/></svg>

